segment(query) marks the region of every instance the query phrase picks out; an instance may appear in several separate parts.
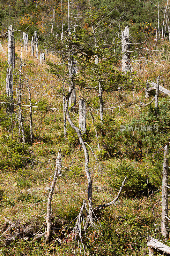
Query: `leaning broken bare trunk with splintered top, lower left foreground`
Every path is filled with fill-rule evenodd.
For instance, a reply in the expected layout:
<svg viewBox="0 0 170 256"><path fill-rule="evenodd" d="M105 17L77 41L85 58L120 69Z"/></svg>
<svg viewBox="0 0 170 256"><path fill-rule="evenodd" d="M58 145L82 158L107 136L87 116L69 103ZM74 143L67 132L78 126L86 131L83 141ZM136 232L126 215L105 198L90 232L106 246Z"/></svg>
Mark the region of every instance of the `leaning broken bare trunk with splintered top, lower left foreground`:
<svg viewBox="0 0 170 256"><path fill-rule="evenodd" d="M51 184L51 188L50 188L50 192L49 192L49 196L48 196L48 203L47 203L47 216L46 216L46 222L47 222L47 233L46 233L46 242L49 243L51 240L51 235L52 235L52 222L51 222L51 218L52 218L52 214L51 214L51 202L52 202L52 196L54 193L54 188L55 188L55 183L56 183L56 179L57 179L57 171L58 174L61 176L61 149L58 152L58 156L56 159L56 164L55 164L55 172L54 172L54 176L53 176L53 181Z"/></svg>

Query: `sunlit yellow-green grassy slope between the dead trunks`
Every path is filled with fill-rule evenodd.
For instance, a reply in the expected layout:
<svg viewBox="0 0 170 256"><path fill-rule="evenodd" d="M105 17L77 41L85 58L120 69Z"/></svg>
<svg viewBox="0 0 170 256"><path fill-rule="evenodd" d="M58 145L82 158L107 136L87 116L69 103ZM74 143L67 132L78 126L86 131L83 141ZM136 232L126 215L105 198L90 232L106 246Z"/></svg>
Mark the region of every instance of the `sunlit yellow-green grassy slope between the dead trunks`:
<svg viewBox="0 0 170 256"><path fill-rule="evenodd" d="M7 52L7 43L3 44L4 50ZM30 47L29 47L30 49ZM20 47L16 44L16 52ZM0 58L3 61L7 60L7 56L0 53ZM58 178L53 196L52 210L56 227L55 232L57 237L63 238L63 234L68 234L69 230L62 231L63 227L78 215L83 198L87 200L87 182L84 172L84 156L79 145L72 146L63 136L63 113L62 113L62 99L56 95L57 82L55 77L49 75L46 71L46 64L40 67L38 61L31 57L30 52L23 55L25 66L24 73L28 77L29 84L32 87L32 99L34 102L41 100L41 97L48 102L51 107L58 108L57 111L40 111L35 109L33 112L33 132L35 140L33 145L28 144L28 152L33 157L32 163L28 163L18 171L12 167L6 168L0 172L0 223L2 224L1 233L8 226L9 223L16 222L15 228L12 230L16 232L20 226L32 227L36 233L44 221L44 213L46 212L48 190L52 181L52 174L55 168L55 157L57 156L59 148L61 148L63 157L63 178ZM162 57L163 58L163 57ZM47 54L46 59L57 60L52 54ZM161 84L169 89L168 77L170 74L169 60L163 62L165 66L148 64L145 71L150 74L150 79L156 81L156 77L161 73ZM19 61L16 61L16 70L18 69ZM134 68L140 69L140 65L134 64ZM5 77L4 70L1 71L1 93L5 93ZM18 72L18 71L16 71ZM146 79L146 72L139 71L137 76L144 82ZM23 85L26 85L24 83ZM16 85L14 84L14 88ZM81 92L78 92L81 96ZM139 108L137 96L143 102L148 102L144 99L144 93L139 91L133 98L130 94L124 95L123 100L119 99L117 92L104 92L103 99L105 107L123 105L121 108L108 110L105 114L115 116L117 122L117 129L121 122L129 123L134 117L138 117L146 108ZM87 94L87 100L91 97L97 97L97 93ZM23 87L23 102L28 103L28 92L26 87ZM127 104L127 102L129 102ZM154 104L154 102L153 102ZM87 110L88 112L88 110ZM23 109L25 125L29 126L29 111ZM99 117L99 113L94 111L94 116ZM78 113L72 115L75 122L78 122ZM67 125L70 130L69 124ZM91 135L91 141L88 142L92 147L94 153L97 153L97 142L92 128L91 117L87 113L87 128ZM1 129L2 135L10 136L8 130ZM14 131L14 138L17 137L17 130ZM71 131L69 133L71 137ZM6 147L1 143L1 152ZM89 149L90 168L93 178L93 198L94 204L104 203L112 200L116 196L116 191L109 187L108 169L111 164L117 165L122 160L110 158L96 163L96 160ZM2 154L1 154L1 157ZM34 161L35 160L35 161ZM133 161L133 164L139 170L143 163ZM149 168L149 166L148 166ZM70 170L70 171L69 171ZM123 178L122 178L123 179ZM74 183L78 184L74 184ZM28 191L29 189L29 191ZM160 234L160 214L161 214L161 194L155 193L153 202L149 197L141 197L134 199L126 199L121 197L117 206L111 206L105 209L99 216L101 224L101 233L97 230L89 230L89 241L85 239L87 244L87 252L95 252L95 255L147 255L146 238L149 235L156 237L153 223L153 209L155 210L157 235ZM5 223L7 218L9 221ZM74 223L73 223L74 225ZM12 232L12 230L10 230ZM44 227L43 229L44 230ZM10 232L6 232L6 237ZM96 240L97 239L97 240ZM91 245L89 245L89 242ZM99 246L99 247L98 247ZM18 239L11 246L0 249L0 255L72 255L74 243L64 243L57 245L53 242L50 247L41 242L33 242L32 240ZM96 251L95 251L96 250Z"/></svg>

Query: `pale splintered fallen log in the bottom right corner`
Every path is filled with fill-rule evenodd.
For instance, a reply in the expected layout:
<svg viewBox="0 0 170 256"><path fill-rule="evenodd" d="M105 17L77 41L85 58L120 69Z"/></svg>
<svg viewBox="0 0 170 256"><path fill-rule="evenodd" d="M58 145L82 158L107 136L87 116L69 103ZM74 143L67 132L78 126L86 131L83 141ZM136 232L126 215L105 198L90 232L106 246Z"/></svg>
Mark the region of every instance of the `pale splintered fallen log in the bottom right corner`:
<svg viewBox="0 0 170 256"><path fill-rule="evenodd" d="M170 255L170 247L152 237L148 238L147 246L149 248L149 256L152 256L153 252L157 252L163 255Z"/></svg>

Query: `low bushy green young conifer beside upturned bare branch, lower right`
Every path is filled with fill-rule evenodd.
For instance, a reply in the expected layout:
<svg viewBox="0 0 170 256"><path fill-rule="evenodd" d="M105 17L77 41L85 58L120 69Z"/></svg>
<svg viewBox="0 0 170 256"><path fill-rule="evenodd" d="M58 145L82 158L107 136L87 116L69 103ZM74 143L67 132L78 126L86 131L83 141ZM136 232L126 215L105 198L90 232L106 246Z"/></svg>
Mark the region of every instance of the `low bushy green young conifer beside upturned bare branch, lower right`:
<svg viewBox="0 0 170 256"><path fill-rule="evenodd" d="M111 188L120 189L122 181L127 176L126 183L123 187L123 194L128 197L141 196L147 192L147 178L141 172L133 167L131 163L123 160L117 167L108 166L111 179L109 186Z"/></svg>

